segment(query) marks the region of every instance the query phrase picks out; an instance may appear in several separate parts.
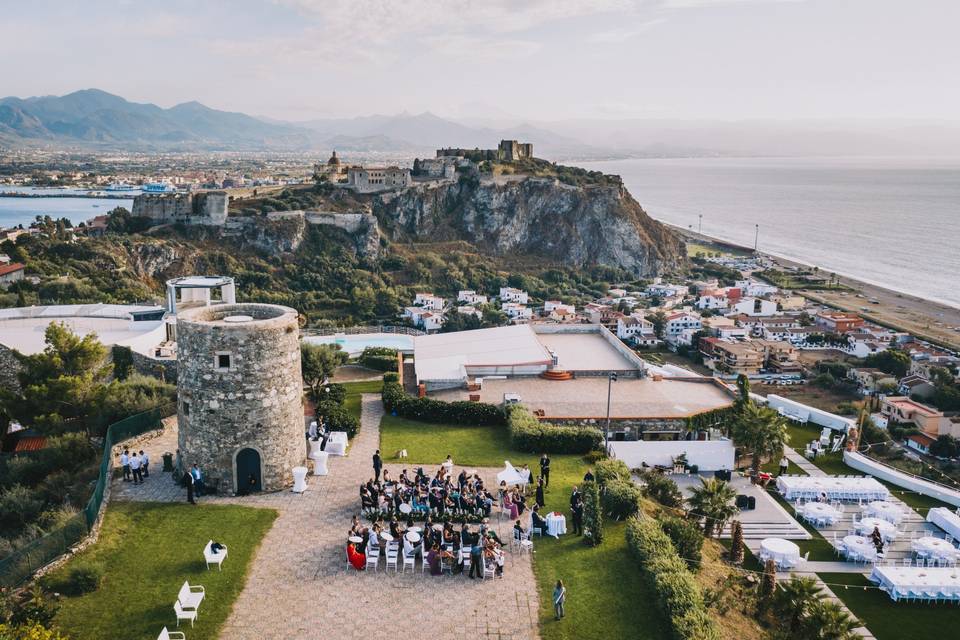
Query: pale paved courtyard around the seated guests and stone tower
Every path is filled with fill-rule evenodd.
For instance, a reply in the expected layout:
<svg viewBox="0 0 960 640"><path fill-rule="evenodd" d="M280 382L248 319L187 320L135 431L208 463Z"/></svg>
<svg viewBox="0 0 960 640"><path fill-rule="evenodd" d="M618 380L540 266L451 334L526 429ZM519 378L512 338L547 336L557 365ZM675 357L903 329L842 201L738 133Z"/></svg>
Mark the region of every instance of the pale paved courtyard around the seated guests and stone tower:
<svg viewBox="0 0 960 640"><path fill-rule="evenodd" d="M529 555L507 554L502 580L430 577L416 571L358 573L347 568L344 546L359 486L372 475L383 408L379 395L363 396L360 433L347 457L331 457L330 474L309 476L302 495L289 491L255 496L204 497L205 501L268 507L279 512L253 559L247 585L234 604L222 638L537 638L538 599ZM185 500L161 455L176 450L176 426L137 445L150 454L153 473L133 486L114 480L111 500ZM442 462L437 461L437 465ZM399 475L400 465L386 465ZM426 466L426 465L425 465ZM426 467L429 470L429 467ZM498 469L478 469L492 482ZM501 537L510 525L498 525ZM215 531L210 537L216 539ZM229 559L228 559L229 562Z"/></svg>

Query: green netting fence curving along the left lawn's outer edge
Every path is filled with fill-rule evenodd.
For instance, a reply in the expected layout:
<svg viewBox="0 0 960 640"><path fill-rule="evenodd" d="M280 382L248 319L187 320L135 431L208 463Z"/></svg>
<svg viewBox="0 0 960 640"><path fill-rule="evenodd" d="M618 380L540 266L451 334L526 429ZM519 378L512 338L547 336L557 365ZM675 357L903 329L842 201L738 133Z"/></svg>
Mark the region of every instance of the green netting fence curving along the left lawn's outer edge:
<svg viewBox="0 0 960 640"><path fill-rule="evenodd" d="M161 420L173 415L176 405L169 404L144 411L115 422L107 428L103 441L103 458L93 495L82 512L58 529L31 541L0 560L0 587L16 587L28 580L37 570L67 553L80 542L97 522L103 494L110 482L113 445L148 431L161 428Z"/></svg>

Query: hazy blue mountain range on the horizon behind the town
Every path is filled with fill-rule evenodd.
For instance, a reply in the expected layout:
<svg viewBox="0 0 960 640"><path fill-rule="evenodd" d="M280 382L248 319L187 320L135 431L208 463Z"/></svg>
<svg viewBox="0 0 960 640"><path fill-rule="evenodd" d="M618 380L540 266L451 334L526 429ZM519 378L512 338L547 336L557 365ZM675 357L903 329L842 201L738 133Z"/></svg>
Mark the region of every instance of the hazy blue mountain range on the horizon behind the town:
<svg viewBox="0 0 960 640"><path fill-rule="evenodd" d="M64 96L0 99L0 145L126 150L287 150L430 153L442 146L533 142L540 153L576 155L582 142L532 125L472 127L426 112L283 122L219 111L199 102L169 109L130 102L99 89Z"/></svg>

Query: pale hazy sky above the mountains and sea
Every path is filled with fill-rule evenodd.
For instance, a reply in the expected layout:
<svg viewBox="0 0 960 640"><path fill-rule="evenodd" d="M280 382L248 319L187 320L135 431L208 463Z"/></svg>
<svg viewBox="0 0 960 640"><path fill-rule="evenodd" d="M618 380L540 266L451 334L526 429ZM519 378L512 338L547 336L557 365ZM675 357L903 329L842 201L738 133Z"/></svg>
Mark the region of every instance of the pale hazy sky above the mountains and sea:
<svg viewBox="0 0 960 640"><path fill-rule="evenodd" d="M0 94L97 87L284 119L960 114L960 0L45 0Z"/></svg>

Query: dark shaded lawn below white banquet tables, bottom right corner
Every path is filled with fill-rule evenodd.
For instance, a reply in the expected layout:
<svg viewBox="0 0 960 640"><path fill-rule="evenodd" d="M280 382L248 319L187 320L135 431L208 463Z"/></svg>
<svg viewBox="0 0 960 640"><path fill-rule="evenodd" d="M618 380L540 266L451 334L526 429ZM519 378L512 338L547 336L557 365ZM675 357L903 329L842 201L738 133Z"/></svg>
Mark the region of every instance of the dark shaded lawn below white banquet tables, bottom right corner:
<svg viewBox="0 0 960 640"><path fill-rule="evenodd" d="M850 585L849 589L834 586L830 590L877 640L943 640L957 632L960 609L956 605L894 602L878 589L864 591L863 587L875 585L859 573L819 575L827 584Z"/></svg>

